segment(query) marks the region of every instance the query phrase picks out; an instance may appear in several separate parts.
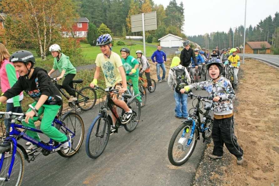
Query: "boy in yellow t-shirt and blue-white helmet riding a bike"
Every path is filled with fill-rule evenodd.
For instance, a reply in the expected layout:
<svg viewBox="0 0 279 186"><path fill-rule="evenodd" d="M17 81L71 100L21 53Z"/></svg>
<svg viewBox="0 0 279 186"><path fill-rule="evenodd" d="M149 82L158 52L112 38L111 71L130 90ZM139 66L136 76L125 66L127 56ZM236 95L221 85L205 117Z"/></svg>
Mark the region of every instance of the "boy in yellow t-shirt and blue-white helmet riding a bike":
<svg viewBox="0 0 279 186"><path fill-rule="evenodd" d="M125 70L121 58L118 54L111 51L112 38L110 34L104 34L98 37L96 46L100 46L101 54L96 57L96 71L94 74L94 79L90 83L90 87L94 88L97 85L98 78L100 76L100 71L102 69L106 87L114 87L118 89L120 94L112 93L111 97L113 102L121 107L125 113L122 116L122 124L126 124L131 120L132 110L127 106L125 101L121 100L122 94L127 90L127 81ZM112 115L113 125L115 125L116 118ZM111 127L111 132L116 131L114 127Z"/></svg>

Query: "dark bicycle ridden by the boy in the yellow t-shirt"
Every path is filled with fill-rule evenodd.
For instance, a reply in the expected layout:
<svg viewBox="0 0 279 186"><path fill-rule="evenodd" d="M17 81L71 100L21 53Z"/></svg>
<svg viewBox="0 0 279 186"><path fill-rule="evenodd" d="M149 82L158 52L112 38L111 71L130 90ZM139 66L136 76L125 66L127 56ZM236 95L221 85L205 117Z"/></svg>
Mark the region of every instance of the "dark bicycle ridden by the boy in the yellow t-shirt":
<svg viewBox="0 0 279 186"><path fill-rule="evenodd" d="M90 158L97 158L105 150L110 137L110 129L112 125L112 118L109 115L109 111L112 112L113 116L116 117L115 129L116 133L120 127L124 127L126 131L132 132L137 127L140 116L141 116L141 106L140 102L137 100L137 96L132 96L131 94L123 94L122 98L127 103L127 106L132 109L133 115L131 120L127 124L121 123L121 118L124 114L124 110L121 109L121 115L119 116L117 110L115 109L114 102L111 99L111 92L118 93L117 89L106 88L102 89L101 87L95 87L97 90L102 90L105 93L105 96L100 96L103 99L101 101L100 111L98 116L93 120L90 125L85 143L86 154ZM120 93L118 93L120 94ZM118 106L117 106L118 107ZM120 107L119 107L120 108Z"/></svg>

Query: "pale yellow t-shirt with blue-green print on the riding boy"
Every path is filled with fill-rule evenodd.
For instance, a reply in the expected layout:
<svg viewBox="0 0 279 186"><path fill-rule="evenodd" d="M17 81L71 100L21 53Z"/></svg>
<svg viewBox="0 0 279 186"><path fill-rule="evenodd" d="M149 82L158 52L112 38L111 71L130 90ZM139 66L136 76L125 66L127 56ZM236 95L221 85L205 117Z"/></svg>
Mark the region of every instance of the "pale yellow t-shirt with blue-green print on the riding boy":
<svg viewBox="0 0 279 186"><path fill-rule="evenodd" d="M106 87L113 87L117 82L122 81L118 68L123 64L118 54L111 51L110 58L105 58L104 54L98 54L95 63L103 70Z"/></svg>

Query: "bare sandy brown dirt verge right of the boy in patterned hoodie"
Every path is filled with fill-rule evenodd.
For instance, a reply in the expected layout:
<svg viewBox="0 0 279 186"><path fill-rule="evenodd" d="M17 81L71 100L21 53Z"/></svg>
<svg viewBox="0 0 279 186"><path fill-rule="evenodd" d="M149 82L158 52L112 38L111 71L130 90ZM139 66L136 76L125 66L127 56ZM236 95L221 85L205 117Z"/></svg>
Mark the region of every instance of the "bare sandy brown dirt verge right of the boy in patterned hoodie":
<svg viewBox="0 0 279 186"><path fill-rule="evenodd" d="M236 90L235 133L245 163L224 147L224 157L210 160L213 144L204 153L195 185L279 185L279 70L254 59L241 64Z"/></svg>

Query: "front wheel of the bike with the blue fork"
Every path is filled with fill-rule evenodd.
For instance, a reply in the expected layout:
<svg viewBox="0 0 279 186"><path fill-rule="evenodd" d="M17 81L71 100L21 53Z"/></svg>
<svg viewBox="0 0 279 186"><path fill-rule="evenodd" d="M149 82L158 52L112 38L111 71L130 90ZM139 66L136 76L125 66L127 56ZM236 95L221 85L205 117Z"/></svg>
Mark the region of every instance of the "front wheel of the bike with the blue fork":
<svg viewBox="0 0 279 186"><path fill-rule="evenodd" d="M175 156L178 156L178 154L180 153L180 152L178 152L177 154L173 154L173 146L174 146L174 143L175 143L176 138L178 137L179 133L180 133L182 130L186 129L186 128L189 129L189 132L188 132L188 133L190 134L190 133L191 133L190 131L192 130L192 121L187 121L187 122L182 123L182 124L175 130L175 132L173 133L173 136L172 136L172 138L171 138L171 140L170 140L170 142L169 142L169 146L168 146L168 160L170 161L171 164L173 164L173 165L175 165L175 166L183 165L183 164L190 158L190 156L191 156L192 153L194 152L195 147L196 147L196 144L197 144L197 139L196 139L196 137L198 136L198 130L195 129L193 140L192 140L192 142L190 143L191 146L188 147L190 151L186 154L186 156L184 156L184 158L183 158L181 161L176 161L176 160L174 159L174 155L175 155ZM178 139L179 139L179 138L178 138ZM178 142L177 142L177 143L178 143ZM176 146L176 147L177 147L177 149L179 149L178 146ZM188 148L187 148L187 149L188 149ZM181 154L183 153L183 150L180 150L180 151L181 151L181 153L180 153L179 157L180 157ZM179 158L179 157L178 157L178 158Z"/></svg>

